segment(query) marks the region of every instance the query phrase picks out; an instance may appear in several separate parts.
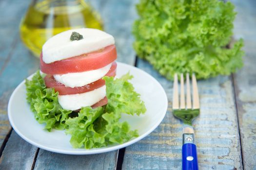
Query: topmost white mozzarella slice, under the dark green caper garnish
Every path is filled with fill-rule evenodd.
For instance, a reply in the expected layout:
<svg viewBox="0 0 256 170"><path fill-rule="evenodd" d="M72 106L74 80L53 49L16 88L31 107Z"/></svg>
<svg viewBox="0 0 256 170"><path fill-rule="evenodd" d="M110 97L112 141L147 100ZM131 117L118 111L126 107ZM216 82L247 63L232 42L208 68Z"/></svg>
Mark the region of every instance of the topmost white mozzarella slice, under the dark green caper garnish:
<svg viewBox="0 0 256 170"><path fill-rule="evenodd" d="M71 41L72 32L83 35L83 39ZM97 51L115 44L114 37L91 28L68 30L48 39L42 47L42 60L52 63L81 54Z"/></svg>

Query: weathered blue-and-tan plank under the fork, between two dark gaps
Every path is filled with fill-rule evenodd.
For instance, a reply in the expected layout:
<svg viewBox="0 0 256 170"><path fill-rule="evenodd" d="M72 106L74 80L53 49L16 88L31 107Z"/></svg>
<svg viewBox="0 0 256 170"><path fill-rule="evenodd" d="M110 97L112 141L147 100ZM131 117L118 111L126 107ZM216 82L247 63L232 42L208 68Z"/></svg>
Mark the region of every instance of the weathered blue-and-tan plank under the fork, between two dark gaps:
<svg viewBox="0 0 256 170"><path fill-rule="evenodd" d="M172 115L172 82L161 77L146 61L138 68L154 76L169 100L167 114L158 128L125 150L124 170L180 170L182 124ZM194 120L200 170L241 170L236 107L230 77L198 81L200 116Z"/></svg>

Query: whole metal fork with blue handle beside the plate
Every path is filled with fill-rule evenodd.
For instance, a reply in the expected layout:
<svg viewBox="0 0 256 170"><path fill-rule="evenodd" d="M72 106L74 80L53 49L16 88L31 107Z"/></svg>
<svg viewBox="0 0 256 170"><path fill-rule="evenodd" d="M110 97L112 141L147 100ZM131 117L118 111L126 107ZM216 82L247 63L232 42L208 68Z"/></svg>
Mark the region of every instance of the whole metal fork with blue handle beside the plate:
<svg viewBox="0 0 256 170"><path fill-rule="evenodd" d="M184 123L182 145L182 170L198 170L197 147L195 144L192 120L200 113L197 79L192 74L193 105L191 102L189 74L186 74L186 104L184 94L184 78L180 74L180 99L178 96L178 75L174 75L173 114Z"/></svg>

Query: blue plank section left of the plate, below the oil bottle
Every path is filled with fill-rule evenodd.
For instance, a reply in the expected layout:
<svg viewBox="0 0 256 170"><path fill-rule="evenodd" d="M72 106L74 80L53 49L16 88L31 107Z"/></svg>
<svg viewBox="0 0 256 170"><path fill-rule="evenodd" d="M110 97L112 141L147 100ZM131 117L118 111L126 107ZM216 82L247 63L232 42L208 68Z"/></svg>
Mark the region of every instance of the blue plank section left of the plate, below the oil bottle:
<svg viewBox="0 0 256 170"><path fill-rule="evenodd" d="M27 50L24 50L23 45L18 43L0 74L0 145L11 128L7 117L9 97L24 78L39 68L38 64L39 60L31 56Z"/></svg>

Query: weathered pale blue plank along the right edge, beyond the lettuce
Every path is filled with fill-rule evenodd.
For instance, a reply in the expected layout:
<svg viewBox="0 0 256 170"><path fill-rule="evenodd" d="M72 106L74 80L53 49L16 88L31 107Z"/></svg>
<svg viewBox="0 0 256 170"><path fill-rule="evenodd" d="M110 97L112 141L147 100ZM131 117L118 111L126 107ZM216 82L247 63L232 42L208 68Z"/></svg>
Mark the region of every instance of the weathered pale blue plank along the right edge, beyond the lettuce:
<svg viewBox="0 0 256 170"><path fill-rule="evenodd" d="M238 12L235 39L244 39L244 67L234 76L243 165L256 170L256 1L232 0Z"/></svg>

